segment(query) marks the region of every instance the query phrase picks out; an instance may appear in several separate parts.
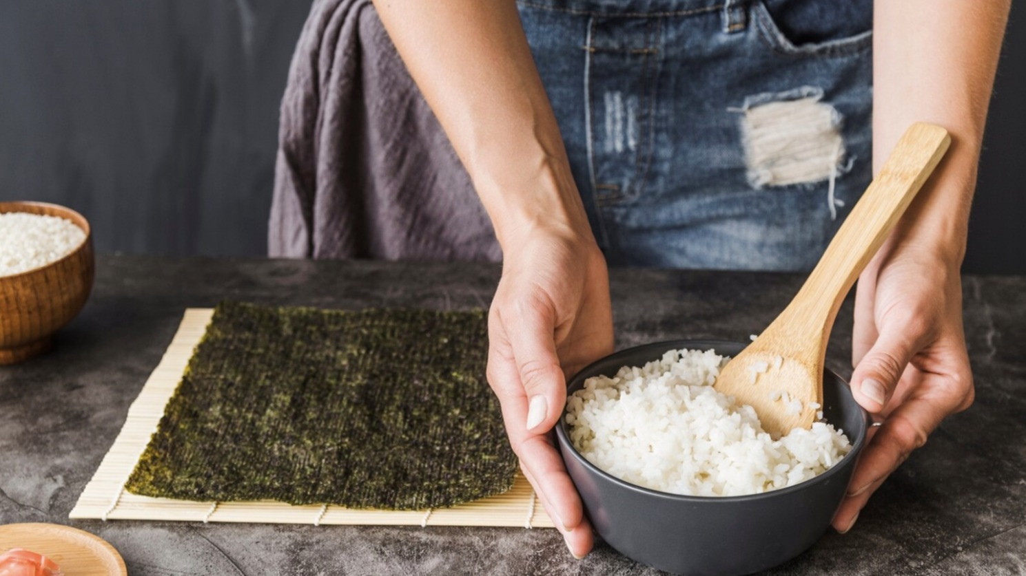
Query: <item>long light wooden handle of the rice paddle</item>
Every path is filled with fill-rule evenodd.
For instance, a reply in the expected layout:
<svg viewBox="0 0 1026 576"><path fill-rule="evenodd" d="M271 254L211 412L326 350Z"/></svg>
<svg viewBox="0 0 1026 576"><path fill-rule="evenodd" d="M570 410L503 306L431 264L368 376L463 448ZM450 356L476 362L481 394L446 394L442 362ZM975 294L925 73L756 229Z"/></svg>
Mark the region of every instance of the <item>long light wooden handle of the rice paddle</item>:
<svg viewBox="0 0 1026 576"><path fill-rule="evenodd" d="M791 302L808 336L830 335L837 310L951 143L944 128L917 122L898 140ZM824 329L825 328L825 329ZM824 333L825 332L825 333Z"/></svg>

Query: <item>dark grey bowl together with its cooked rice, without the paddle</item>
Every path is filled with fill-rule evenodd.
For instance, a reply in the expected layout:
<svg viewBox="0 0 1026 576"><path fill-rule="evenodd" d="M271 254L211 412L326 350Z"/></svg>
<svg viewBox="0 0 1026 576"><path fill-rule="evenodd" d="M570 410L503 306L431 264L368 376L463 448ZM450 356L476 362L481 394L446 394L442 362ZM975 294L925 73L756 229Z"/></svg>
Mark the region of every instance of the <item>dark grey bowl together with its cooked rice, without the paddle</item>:
<svg viewBox="0 0 1026 576"><path fill-rule="evenodd" d="M812 429L772 438L750 406L712 387L745 345L646 344L570 380L559 449L595 532L625 556L679 574L750 574L829 528L869 415L827 370Z"/></svg>

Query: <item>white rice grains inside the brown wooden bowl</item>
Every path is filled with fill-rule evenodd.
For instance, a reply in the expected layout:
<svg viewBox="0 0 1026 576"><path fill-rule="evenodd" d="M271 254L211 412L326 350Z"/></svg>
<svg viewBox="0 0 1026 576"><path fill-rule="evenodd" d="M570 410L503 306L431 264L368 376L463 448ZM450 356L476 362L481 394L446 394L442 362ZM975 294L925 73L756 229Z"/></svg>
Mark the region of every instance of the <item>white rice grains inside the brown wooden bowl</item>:
<svg viewBox="0 0 1026 576"><path fill-rule="evenodd" d="M57 216L0 214L0 277L60 260L85 242L85 232Z"/></svg>

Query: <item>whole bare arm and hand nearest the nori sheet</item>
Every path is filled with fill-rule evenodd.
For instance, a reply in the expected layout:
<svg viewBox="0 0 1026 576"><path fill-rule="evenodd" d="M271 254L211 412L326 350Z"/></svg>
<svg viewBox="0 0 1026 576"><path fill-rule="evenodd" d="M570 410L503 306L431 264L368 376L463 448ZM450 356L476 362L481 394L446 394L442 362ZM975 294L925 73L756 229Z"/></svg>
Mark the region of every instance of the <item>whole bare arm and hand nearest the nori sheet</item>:
<svg viewBox="0 0 1026 576"><path fill-rule="evenodd" d="M547 433L566 400L565 375L613 351L609 285L516 2L374 0L374 8L503 247L488 382L520 467L583 557L591 528Z"/></svg>

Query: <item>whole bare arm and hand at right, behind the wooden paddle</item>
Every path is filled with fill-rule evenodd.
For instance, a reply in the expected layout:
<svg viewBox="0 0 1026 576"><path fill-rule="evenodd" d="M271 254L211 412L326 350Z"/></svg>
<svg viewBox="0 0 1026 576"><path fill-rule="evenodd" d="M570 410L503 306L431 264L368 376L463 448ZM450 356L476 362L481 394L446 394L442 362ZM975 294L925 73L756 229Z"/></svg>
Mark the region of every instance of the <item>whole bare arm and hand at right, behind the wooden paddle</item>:
<svg viewBox="0 0 1026 576"><path fill-rule="evenodd" d="M945 416L973 403L958 270L1010 5L873 3L874 173L913 122L947 128L951 148L859 279L852 389L883 424L834 517L840 532Z"/></svg>

